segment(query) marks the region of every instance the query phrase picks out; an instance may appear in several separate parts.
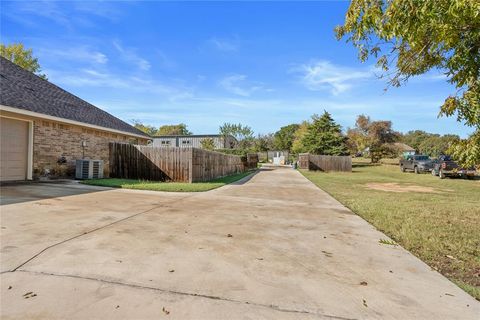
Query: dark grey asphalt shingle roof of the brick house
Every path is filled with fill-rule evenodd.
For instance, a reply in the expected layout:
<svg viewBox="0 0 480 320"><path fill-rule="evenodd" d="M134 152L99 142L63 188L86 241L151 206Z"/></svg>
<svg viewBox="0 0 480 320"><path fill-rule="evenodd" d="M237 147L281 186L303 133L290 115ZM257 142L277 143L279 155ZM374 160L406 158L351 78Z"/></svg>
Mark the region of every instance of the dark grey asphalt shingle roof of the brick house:
<svg viewBox="0 0 480 320"><path fill-rule="evenodd" d="M0 57L0 104L143 135L142 131Z"/></svg>

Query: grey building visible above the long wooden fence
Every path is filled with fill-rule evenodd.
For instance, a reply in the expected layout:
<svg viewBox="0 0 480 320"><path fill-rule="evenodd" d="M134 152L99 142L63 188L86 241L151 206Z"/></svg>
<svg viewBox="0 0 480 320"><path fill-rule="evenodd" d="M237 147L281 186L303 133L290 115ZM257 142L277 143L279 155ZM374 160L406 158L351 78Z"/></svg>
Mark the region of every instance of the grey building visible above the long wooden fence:
<svg viewBox="0 0 480 320"><path fill-rule="evenodd" d="M155 136L153 147L194 147L202 148L202 141L212 139L215 149L233 149L237 145L237 139L233 136L220 134L204 135L179 135L179 136Z"/></svg>

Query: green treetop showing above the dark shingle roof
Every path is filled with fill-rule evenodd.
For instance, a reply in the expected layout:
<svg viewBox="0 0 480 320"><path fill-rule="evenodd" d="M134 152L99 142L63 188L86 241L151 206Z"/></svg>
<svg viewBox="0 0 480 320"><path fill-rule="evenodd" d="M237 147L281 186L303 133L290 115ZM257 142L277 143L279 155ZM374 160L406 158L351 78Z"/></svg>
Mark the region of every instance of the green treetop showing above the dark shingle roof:
<svg viewBox="0 0 480 320"><path fill-rule="evenodd" d="M47 80L47 76L43 73L40 73L42 69L38 63L38 58L33 56L33 50L24 48L23 44L0 44L0 55L22 67L23 69L33 72L40 78Z"/></svg>

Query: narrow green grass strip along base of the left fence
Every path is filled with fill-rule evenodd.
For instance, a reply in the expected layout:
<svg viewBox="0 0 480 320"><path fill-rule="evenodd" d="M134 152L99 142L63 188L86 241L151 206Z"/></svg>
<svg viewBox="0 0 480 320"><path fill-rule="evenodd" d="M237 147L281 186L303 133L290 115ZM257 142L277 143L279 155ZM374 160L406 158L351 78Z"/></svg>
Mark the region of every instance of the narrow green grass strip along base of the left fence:
<svg viewBox="0 0 480 320"><path fill-rule="evenodd" d="M170 192L200 192L208 191L222 187L226 184L240 180L254 171L247 171L243 173L237 173L223 178L218 178L208 182L195 182L195 183L183 183L183 182L158 182L158 181L145 181L145 180L133 180L133 179L93 179L84 180L82 183L94 186L112 187L112 188L125 188L125 189L137 189L137 190L152 190L152 191L170 191Z"/></svg>

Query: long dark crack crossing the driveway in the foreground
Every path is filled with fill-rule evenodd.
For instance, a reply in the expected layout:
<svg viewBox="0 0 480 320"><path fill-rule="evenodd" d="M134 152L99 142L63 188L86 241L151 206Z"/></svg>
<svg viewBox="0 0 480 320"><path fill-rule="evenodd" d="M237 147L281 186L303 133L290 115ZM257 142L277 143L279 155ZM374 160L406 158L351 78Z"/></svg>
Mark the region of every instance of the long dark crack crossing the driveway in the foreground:
<svg viewBox="0 0 480 320"><path fill-rule="evenodd" d="M283 308L281 306L274 305L274 304L263 304L263 303L242 301L242 300L236 300L236 299L207 295L207 294L201 294L201 293L191 293L191 292L161 289L161 288L156 288L156 287L151 287L151 286L144 286L144 285L132 284L132 283L124 283L124 282L114 281L114 280L105 280L105 279L100 279L100 278L85 277L85 276L71 275L71 274L60 274L60 273L43 272L43 271L30 271L30 270L26 270L26 269L20 269L20 270L16 270L16 271L17 272L31 273L31 274L36 274L36 275L44 275L44 276L65 277L65 278L72 278L72 279L97 281L97 282L102 282L102 283L107 283L107 284L112 284L112 285L119 285L119 286L135 288L135 289L142 289L142 290L151 290L151 291L157 291L157 292L162 292L162 293L167 293L167 294L174 294L174 295L181 295L181 296L188 296L188 297L197 297L197 298L204 298L204 299L210 299L210 300L219 300L219 301L231 302L231 303L236 303L236 304L246 304L246 305L252 305L252 306L261 307L261 308L272 309L272 310L279 311L279 312L309 314L309 315L321 316L323 318L336 319L336 320L356 320L355 318L346 318L346 317L342 317L342 316L334 316L334 315L329 315L329 314L324 314L324 313L319 313L319 312L312 312L312 311L308 311L308 310L287 309L287 308ZM14 272L14 271L11 271L11 272Z"/></svg>

